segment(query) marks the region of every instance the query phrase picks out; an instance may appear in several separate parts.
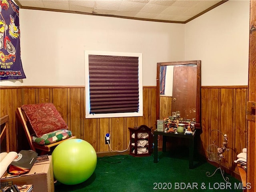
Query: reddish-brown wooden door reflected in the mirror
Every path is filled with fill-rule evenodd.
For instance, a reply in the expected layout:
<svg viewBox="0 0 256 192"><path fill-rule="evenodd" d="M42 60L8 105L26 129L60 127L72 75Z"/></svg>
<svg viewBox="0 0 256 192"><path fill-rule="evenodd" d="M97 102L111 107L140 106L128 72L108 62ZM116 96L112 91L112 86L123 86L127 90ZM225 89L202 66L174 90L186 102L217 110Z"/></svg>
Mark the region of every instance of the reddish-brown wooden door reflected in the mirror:
<svg viewBox="0 0 256 192"><path fill-rule="evenodd" d="M190 120L196 119L196 78L196 65L174 66L172 112Z"/></svg>

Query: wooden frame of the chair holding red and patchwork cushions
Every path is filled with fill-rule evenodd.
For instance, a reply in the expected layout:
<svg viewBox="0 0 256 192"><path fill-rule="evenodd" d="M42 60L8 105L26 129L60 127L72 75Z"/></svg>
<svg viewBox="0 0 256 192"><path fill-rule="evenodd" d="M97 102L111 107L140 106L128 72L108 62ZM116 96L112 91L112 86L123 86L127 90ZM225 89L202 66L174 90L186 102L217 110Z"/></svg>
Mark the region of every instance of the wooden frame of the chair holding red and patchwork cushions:
<svg viewBox="0 0 256 192"><path fill-rule="evenodd" d="M34 130L32 129L30 122L28 121L26 114L24 113L22 108L17 108L16 115L17 115L18 120L22 124L22 127L23 127L26 137L28 139L31 150L33 150L33 151L40 150L40 153L39 153L40 155L47 154L47 153L51 152L58 144L64 142L65 140L76 138L76 136L71 136L70 138L66 138L64 140L60 140L58 142L55 142L55 143L52 143L49 145L37 144L32 141L31 135L34 134Z"/></svg>

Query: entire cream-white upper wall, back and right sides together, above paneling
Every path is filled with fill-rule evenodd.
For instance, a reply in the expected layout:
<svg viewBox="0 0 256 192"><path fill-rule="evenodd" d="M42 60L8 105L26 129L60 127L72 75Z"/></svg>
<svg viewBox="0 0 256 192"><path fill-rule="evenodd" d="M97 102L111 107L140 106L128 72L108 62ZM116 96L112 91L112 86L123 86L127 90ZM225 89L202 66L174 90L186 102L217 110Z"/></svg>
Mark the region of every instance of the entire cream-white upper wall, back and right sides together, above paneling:
<svg viewBox="0 0 256 192"><path fill-rule="evenodd" d="M84 50L143 54L143 86L156 63L202 60L202 86L247 85L249 0L229 0L187 24L20 9L24 80L6 86L84 86Z"/></svg>

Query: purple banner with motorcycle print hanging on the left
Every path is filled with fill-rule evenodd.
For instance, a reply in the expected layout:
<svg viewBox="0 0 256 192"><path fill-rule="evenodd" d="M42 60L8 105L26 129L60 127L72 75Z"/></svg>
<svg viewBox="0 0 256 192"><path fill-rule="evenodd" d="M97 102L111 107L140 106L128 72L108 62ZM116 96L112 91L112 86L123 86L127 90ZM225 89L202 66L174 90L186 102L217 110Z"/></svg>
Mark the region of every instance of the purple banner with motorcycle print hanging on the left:
<svg viewBox="0 0 256 192"><path fill-rule="evenodd" d="M0 80L24 78L19 7L12 0L0 0Z"/></svg>

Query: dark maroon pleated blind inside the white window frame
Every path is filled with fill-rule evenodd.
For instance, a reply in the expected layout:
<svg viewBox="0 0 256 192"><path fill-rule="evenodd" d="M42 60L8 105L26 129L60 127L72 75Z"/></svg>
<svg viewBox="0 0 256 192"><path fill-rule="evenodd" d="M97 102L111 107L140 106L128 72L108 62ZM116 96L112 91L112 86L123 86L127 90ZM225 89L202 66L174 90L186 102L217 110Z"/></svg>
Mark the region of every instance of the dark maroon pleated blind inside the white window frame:
<svg viewBox="0 0 256 192"><path fill-rule="evenodd" d="M88 58L90 114L138 112L138 57Z"/></svg>

